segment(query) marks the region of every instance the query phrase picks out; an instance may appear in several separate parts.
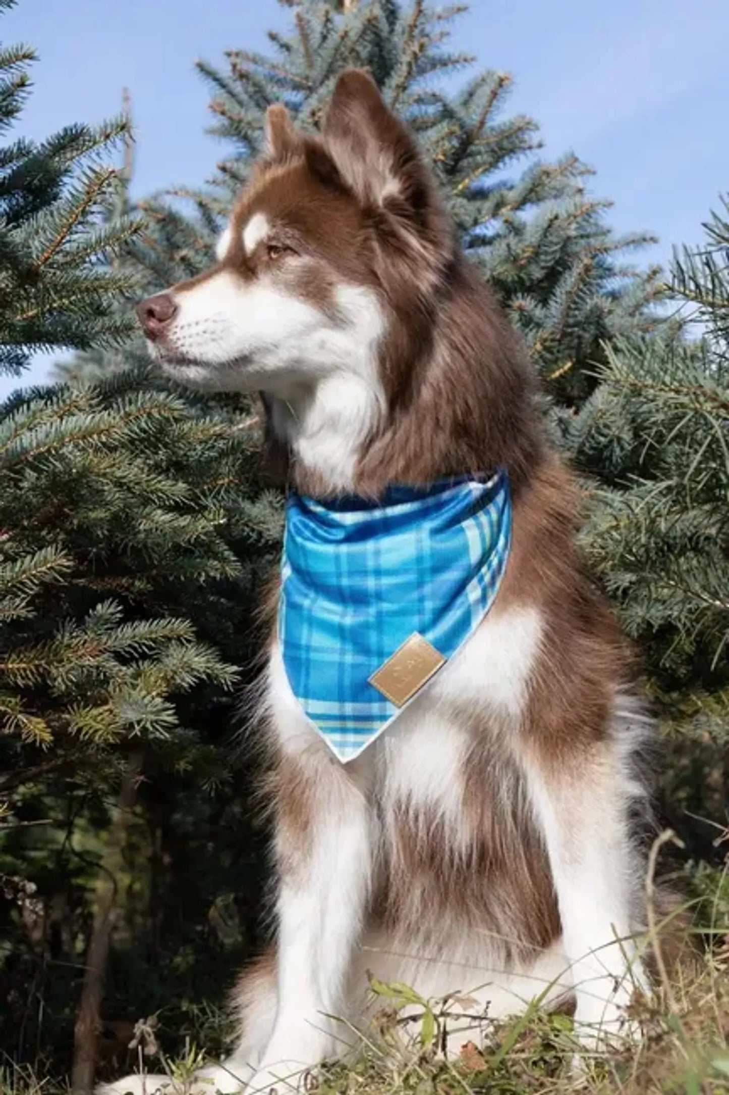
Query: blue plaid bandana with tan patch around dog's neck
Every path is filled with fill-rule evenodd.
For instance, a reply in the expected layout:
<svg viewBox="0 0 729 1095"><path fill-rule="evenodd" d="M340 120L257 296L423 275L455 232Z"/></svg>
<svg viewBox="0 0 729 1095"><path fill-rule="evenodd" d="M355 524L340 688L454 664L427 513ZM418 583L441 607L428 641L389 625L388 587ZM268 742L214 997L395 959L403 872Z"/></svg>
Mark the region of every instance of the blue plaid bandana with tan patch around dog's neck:
<svg viewBox="0 0 729 1095"><path fill-rule="evenodd" d="M478 627L510 527L506 472L395 486L375 504L289 495L283 664L341 761L358 757Z"/></svg>

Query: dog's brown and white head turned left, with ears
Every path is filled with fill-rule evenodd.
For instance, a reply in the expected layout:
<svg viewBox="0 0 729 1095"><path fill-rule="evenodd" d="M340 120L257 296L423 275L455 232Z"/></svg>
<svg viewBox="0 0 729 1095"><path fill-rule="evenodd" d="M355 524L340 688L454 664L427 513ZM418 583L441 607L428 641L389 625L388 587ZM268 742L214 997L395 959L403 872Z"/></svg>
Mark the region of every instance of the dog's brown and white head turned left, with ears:
<svg viewBox="0 0 729 1095"><path fill-rule="evenodd" d="M349 70L318 138L269 108L264 154L216 265L138 314L152 356L178 380L290 400L346 374L385 405L392 316L409 313L412 338L450 241L412 137L373 80Z"/></svg>

